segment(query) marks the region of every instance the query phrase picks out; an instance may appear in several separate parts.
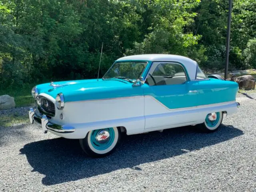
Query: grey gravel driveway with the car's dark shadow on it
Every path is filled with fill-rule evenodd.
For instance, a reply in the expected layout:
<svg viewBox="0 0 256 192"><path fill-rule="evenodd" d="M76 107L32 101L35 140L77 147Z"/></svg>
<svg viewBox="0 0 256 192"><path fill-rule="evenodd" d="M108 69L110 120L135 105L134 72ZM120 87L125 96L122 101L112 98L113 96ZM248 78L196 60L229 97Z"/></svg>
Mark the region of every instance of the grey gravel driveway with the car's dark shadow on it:
<svg viewBox="0 0 256 192"><path fill-rule="evenodd" d="M27 123L0 127L0 191L256 192L256 94L238 96L239 112L218 132L189 126L124 136L101 159Z"/></svg>

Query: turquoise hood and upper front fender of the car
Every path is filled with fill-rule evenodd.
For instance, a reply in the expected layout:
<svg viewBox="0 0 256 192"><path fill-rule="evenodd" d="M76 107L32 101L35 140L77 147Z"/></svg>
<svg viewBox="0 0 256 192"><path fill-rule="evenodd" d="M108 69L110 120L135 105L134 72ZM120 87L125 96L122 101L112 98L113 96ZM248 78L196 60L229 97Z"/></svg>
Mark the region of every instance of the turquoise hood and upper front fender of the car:
<svg viewBox="0 0 256 192"><path fill-rule="evenodd" d="M36 87L38 94L45 93L53 98L62 93L65 102L138 95L138 92L133 91L132 83L118 79L62 81L54 82L52 85L50 83L40 84Z"/></svg>

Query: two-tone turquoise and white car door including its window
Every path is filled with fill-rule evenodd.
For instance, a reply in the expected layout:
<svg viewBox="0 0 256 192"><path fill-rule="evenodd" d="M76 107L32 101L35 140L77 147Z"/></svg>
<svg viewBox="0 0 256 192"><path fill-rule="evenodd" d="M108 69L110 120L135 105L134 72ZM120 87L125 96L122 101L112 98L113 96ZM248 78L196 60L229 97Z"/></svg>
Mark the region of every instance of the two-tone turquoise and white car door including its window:
<svg viewBox="0 0 256 192"><path fill-rule="evenodd" d="M196 122L197 83L182 64L153 62L144 84L145 129Z"/></svg>

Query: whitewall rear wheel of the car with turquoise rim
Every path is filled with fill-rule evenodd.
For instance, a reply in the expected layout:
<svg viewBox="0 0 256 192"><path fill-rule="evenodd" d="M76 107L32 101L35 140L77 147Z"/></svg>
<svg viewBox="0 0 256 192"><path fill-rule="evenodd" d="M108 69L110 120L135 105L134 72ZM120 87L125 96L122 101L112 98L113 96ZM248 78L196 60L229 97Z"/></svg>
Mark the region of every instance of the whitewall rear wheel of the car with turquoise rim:
<svg viewBox="0 0 256 192"><path fill-rule="evenodd" d="M222 112L214 112L206 115L206 118L200 128L204 132L214 132L221 126L223 120Z"/></svg>

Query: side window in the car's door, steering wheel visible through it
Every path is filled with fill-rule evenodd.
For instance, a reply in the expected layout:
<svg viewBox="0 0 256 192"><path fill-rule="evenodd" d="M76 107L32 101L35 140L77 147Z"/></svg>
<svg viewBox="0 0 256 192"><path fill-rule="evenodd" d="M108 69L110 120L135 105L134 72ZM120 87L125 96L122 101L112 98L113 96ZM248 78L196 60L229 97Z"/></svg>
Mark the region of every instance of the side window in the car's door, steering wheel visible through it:
<svg viewBox="0 0 256 192"><path fill-rule="evenodd" d="M149 85L176 85L186 82L187 77L180 64L158 63L147 80Z"/></svg>

